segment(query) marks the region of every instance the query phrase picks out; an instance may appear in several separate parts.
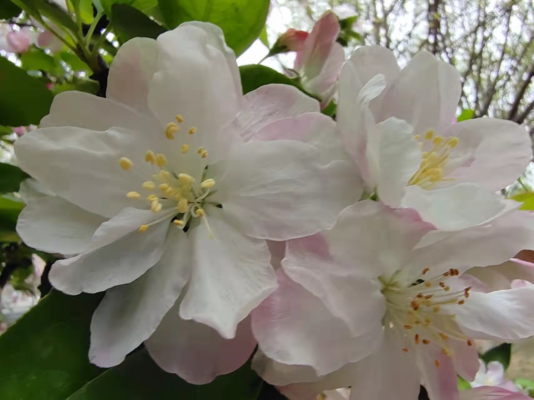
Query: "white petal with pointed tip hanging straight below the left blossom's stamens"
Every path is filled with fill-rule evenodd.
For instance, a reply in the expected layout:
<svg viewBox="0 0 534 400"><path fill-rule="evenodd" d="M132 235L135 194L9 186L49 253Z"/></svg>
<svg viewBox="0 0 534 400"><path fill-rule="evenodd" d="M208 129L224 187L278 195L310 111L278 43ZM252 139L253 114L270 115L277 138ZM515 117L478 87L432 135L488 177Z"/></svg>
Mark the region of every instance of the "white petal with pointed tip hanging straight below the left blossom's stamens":
<svg viewBox="0 0 534 400"><path fill-rule="evenodd" d="M238 323L277 287L271 254L264 240L242 236L217 218L191 231L191 283L180 317L213 327L223 338L235 335Z"/></svg>

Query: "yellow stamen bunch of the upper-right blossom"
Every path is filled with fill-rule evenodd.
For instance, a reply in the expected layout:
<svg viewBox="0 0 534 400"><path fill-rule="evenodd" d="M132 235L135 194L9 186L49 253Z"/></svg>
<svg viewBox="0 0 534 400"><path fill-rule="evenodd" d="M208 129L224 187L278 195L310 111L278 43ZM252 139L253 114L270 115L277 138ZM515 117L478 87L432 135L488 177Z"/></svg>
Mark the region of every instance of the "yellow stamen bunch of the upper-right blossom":
<svg viewBox="0 0 534 400"><path fill-rule="evenodd" d="M434 131L431 130L425 133L425 141L421 141L421 135L415 135L414 138L419 141L421 148L429 148L429 151L422 151L419 170L413 174L408 185L417 185L426 190L434 189L439 182L449 180L443 177L443 169L452 149L458 145L460 139L444 138L441 135L434 137Z"/></svg>

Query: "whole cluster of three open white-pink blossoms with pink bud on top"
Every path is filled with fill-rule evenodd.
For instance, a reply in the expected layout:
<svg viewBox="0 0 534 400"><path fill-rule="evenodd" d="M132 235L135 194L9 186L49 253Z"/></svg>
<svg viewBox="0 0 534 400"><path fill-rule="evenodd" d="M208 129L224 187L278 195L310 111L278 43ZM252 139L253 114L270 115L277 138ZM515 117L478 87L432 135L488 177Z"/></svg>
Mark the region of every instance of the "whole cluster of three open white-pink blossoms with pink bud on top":
<svg viewBox="0 0 534 400"><path fill-rule="evenodd" d="M210 23L125 43L106 98L61 93L15 143L36 179L18 233L65 255L56 289L106 292L99 366L144 343L200 384L257 346L254 369L290 399L351 387L353 400L412 400L420 385L431 400L520 399L460 394L457 374L480 380L475 339L534 335L534 285L512 283L531 271L509 261L534 247L534 217L499 194L529 163L529 136L453 123L459 75L429 53L403 69L375 46L345 61L339 25L319 34L332 18L296 69L321 99L339 82L336 121L293 86L244 95Z"/></svg>

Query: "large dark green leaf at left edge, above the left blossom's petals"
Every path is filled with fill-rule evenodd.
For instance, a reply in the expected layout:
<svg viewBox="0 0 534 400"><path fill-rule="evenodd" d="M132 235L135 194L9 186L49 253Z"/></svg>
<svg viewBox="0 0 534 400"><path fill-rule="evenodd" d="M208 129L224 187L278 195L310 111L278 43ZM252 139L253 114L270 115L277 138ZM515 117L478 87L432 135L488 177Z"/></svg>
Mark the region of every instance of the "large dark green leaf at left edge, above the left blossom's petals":
<svg viewBox="0 0 534 400"><path fill-rule="evenodd" d="M50 111L52 98L41 79L0 57L0 125L37 125Z"/></svg>

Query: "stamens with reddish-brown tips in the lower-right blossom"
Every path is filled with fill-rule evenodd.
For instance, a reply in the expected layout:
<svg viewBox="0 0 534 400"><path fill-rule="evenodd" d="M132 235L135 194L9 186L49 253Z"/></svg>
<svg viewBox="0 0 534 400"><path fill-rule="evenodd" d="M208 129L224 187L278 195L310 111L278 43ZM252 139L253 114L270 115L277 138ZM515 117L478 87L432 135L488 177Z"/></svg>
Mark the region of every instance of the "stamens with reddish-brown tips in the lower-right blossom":
<svg viewBox="0 0 534 400"><path fill-rule="evenodd" d="M426 276L428 271L429 268L423 269L414 283L406 283L400 271L389 278L379 277L387 304L384 323L400 330L408 343L403 351L407 352L418 345L434 345L443 354L452 357L447 345L451 337L466 341L468 346L473 346L473 342L459 329L454 321L456 315L445 312L442 307L464 304L471 287L451 291L446 280L459 275L457 269L431 278ZM435 363L439 366L438 360Z"/></svg>

